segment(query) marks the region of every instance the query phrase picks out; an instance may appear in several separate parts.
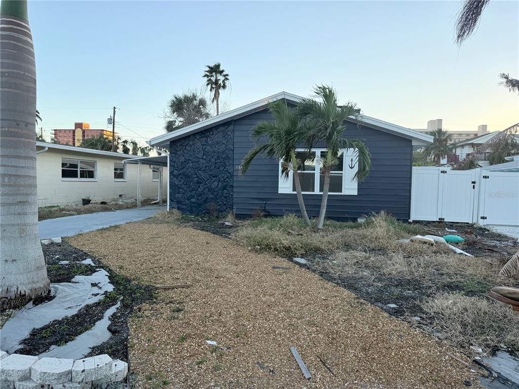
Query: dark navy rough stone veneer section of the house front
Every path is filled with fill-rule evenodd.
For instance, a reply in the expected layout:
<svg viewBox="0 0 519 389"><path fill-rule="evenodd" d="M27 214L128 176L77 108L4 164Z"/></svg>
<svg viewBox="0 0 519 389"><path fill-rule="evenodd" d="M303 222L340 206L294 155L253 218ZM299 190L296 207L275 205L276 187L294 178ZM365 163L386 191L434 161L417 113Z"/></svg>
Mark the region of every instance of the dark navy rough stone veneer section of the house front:
<svg viewBox="0 0 519 389"><path fill-rule="evenodd" d="M234 124L197 132L169 145L170 208L201 214L233 209ZM214 205L212 206L214 208Z"/></svg>

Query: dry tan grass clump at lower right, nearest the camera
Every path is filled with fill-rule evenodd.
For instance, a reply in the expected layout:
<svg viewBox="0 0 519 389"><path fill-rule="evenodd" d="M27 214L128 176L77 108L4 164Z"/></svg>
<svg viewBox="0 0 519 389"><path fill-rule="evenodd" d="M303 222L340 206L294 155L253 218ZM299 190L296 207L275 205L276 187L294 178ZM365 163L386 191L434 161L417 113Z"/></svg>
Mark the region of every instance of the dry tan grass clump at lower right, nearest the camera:
<svg viewBox="0 0 519 389"><path fill-rule="evenodd" d="M519 351L519 314L490 299L442 294L422 303L443 339L456 347L485 351L501 345Z"/></svg>

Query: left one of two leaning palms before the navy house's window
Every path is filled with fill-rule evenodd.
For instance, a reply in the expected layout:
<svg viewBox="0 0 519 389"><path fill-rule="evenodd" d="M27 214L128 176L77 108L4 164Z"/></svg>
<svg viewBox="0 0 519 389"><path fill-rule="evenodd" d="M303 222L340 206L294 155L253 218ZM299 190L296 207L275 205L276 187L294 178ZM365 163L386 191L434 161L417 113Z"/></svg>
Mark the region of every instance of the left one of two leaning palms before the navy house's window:
<svg viewBox="0 0 519 389"><path fill-rule="evenodd" d="M310 227L297 172L297 166L301 161L297 161L295 156L296 147L306 140L309 130L298 112L289 108L285 101L272 102L268 105L268 109L275 122L263 121L256 124L251 134L256 145L243 158L241 173L247 173L254 158L260 154L267 158L279 158L282 161L281 174L285 178L289 177L290 170L293 171L299 209L305 223Z"/></svg>

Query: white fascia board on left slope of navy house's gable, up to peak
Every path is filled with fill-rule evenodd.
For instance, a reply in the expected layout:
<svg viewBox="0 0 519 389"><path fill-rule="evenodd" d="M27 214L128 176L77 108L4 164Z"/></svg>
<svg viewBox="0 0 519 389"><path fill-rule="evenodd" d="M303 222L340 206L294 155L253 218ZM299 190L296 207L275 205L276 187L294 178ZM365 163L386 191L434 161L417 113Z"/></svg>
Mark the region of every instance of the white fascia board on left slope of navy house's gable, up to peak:
<svg viewBox="0 0 519 389"><path fill-rule="evenodd" d="M198 123L191 124L190 126L183 127L179 130L172 131L167 134L156 136L154 138L151 138L149 140L148 144L152 145L152 146L166 145L169 142L175 140L176 138L180 138L182 136L186 136L186 135L201 131L201 130L209 128L209 127L217 126L217 124L227 122L229 120L232 120L235 117L239 117L239 116L246 114L250 111L253 111L255 109L262 108L272 101L281 100L281 99L293 101L296 103L303 100L303 98L301 96L297 96L295 94L288 93L288 92L279 92L279 93L273 94L271 96L268 96L265 99L255 101L253 103L244 105L244 106L236 108L236 109L232 109L229 112L226 112L224 114L213 116L209 119L199 121Z"/></svg>

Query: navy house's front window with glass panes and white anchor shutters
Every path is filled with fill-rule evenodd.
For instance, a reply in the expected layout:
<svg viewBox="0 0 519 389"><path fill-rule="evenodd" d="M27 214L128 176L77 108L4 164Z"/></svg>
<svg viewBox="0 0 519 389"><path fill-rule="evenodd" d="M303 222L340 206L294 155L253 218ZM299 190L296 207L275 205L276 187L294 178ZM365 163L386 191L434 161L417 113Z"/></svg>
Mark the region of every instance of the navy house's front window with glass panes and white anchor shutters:
<svg viewBox="0 0 519 389"><path fill-rule="evenodd" d="M296 150L296 159L299 161L297 172L303 193L322 193L324 188L324 174L321 173L321 161L326 158L326 149ZM295 178L292 169L289 177L281 174L279 163L278 192L295 193ZM331 195L357 195L357 180L353 176L357 173L358 161L356 149L339 150L335 163L331 166L330 187Z"/></svg>

